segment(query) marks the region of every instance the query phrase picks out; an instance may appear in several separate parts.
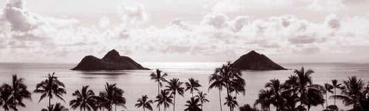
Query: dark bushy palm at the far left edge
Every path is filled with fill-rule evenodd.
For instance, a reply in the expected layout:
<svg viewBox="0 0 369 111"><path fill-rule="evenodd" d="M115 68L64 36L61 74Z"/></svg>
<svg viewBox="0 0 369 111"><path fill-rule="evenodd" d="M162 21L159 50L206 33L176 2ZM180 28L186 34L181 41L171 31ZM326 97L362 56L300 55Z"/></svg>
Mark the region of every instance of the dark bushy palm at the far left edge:
<svg viewBox="0 0 369 111"><path fill-rule="evenodd" d="M11 85L5 83L1 85L1 89L3 89L3 91L6 91L5 96L8 96L8 102L4 103L4 105L10 105L10 108L12 108L13 110L18 110L17 105L21 105L21 107L26 107L26 105L22 103L23 99L31 99L30 92L28 92L27 90L27 85L24 84L24 78L18 79L17 74L12 75Z"/></svg>

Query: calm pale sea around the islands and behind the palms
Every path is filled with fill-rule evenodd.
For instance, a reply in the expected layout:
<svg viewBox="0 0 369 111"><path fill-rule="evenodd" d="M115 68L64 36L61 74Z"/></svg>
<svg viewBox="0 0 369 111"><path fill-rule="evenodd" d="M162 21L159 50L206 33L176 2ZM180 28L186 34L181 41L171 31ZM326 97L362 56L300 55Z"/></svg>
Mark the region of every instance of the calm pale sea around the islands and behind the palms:
<svg viewBox="0 0 369 111"><path fill-rule="evenodd" d="M208 76L213 73L216 67L220 67L223 62L145 62L141 63L144 67L150 69L159 68L168 73L167 79L179 78L182 82L188 81L188 78L195 78L203 85L200 89L204 92L208 91ZM368 83L369 80L369 64L355 63L284 63L280 64L287 69L314 69L313 83L323 85L330 83L332 79L340 82L346 80L348 76L357 76L364 78ZM147 94L149 99L155 99L157 94L157 84L150 80L152 71L71 71L69 69L75 67L75 64L49 64L49 63L0 63L0 83L10 83L12 74L17 74L21 78L25 78L30 92L35 89L35 85L46 79L48 73L55 72L56 76L66 85L67 94L64 95L66 103L60 99L53 99L52 103L62 103L69 108L69 101L73 99L72 93L76 89L81 89L82 85L89 85L93 91L98 94L104 89L105 83L116 83L118 87L125 91L127 99L127 109L118 108L118 110L142 110L134 108L137 99ZM285 81L293 71L242 71L243 78L246 80L246 95L237 96L239 105L249 103L253 105L255 99L258 98L258 92L264 88L264 84L273 78ZM217 89L210 89L206 96L210 103L204 104L205 111L219 110L219 99ZM339 94L339 93L338 93ZM39 101L40 94L33 94L32 101L25 100L26 108L20 110L41 110L46 108L48 100ZM177 96L176 110L183 110L183 106L190 99L190 92L186 92L184 97ZM222 92L222 100L226 96L226 91ZM330 95L328 95L330 96ZM337 101L339 108L347 110L342 101ZM329 104L333 104L333 100L328 100ZM153 105L156 109L156 103ZM223 110L228 110L226 106L222 106ZM168 109L172 110L172 106ZM323 110L321 105L313 107L311 110Z"/></svg>

